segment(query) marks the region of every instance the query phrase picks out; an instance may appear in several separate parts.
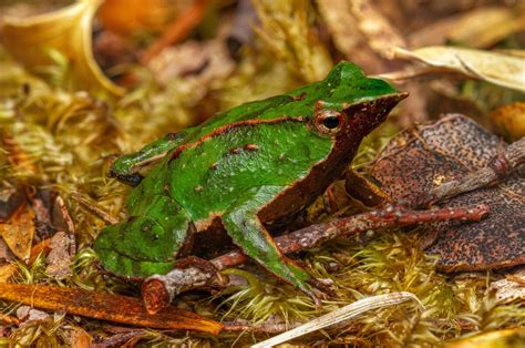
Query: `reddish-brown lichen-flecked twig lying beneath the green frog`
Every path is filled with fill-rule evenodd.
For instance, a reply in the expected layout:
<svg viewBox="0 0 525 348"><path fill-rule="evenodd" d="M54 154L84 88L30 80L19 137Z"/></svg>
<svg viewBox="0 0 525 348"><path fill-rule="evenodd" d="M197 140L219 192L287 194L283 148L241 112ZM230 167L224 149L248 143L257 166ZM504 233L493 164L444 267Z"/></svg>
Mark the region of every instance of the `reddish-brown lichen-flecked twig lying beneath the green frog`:
<svg viewBox="0 0 525 348"><path fill-rule="evenodd" d="M312 248L318 244L341 236L357 235L361 232L384 227L410 226L437 221L462 219L478 221L488 212L488 206L480 205L472 208L455 207L433 211L409 211L401 206L363 213L350 217L338 218L325 224L312 225L276 238L277 246L284 254ZM194 264L177 267L166 275L155 275L143 283L142 296L148 313L158 313L169 305L172 299L182 291L210 286L217 279L216 270L234 267L248 262L249 258L240 250L216 257L206 267ZM177 265L178 266L178 265ZM216 268L216 270L214 270Z"/></svg>

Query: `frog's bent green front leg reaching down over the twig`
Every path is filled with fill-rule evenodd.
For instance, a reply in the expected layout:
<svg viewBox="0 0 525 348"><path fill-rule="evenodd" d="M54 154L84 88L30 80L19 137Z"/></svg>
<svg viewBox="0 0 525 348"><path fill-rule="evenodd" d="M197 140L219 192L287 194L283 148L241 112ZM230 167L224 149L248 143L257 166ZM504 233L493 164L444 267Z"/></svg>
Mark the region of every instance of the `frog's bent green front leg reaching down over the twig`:
<svg viewBox="0 0 525 348"><path fill-rule="evenodd" d="M223 224L234 243L247 256L317 299L308 284L312 277L282 255L257 216L257 212L281 191L282 187L279 186L262 186L247 191L223 215Z"/></svg>

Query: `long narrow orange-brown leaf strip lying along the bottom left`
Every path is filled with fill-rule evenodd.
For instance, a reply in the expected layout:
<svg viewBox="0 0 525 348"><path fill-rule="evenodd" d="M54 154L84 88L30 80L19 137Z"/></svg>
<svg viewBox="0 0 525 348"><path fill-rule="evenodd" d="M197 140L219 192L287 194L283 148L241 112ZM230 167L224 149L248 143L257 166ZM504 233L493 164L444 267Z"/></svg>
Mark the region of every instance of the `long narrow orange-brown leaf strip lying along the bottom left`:
<svg viewBox="0 0 525 348"><path fill-rule="evenodd" d="M0 284L0 298L37 308L157 329L217 335L223 325L189 310L168 307L150 315L141 299L106 293L28 284Z"/></svg>

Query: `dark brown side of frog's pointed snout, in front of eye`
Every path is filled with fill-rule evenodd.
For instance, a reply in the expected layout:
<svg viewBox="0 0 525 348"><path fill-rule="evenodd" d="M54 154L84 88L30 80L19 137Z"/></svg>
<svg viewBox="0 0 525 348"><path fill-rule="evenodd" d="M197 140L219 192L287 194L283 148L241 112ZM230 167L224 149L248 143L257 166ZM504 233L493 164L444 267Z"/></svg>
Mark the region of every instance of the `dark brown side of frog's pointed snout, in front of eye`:
<svg viewBox="0 0 525 348"><path fill-rule="evenodd" d="M348 126L342 136L356 136L356 134L361 135L360 137L366 136L383 123L390 111L408 95L408 92L385 94L349 105L344 109Z"/></svg>

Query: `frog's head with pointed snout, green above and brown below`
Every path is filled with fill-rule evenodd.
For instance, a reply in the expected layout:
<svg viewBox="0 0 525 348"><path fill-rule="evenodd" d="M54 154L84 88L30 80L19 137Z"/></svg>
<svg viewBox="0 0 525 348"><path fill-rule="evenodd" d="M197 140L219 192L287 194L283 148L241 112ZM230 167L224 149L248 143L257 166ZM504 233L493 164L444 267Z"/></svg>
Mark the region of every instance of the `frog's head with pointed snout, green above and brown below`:
<svg viewBox="0 0 525 348"><path fill-rule="evenodd" d="M337 64L320 84L329 92L313 106L311 130L347 149L359 144L408 95L383 80L367 78L350 62Z"/></svg>

